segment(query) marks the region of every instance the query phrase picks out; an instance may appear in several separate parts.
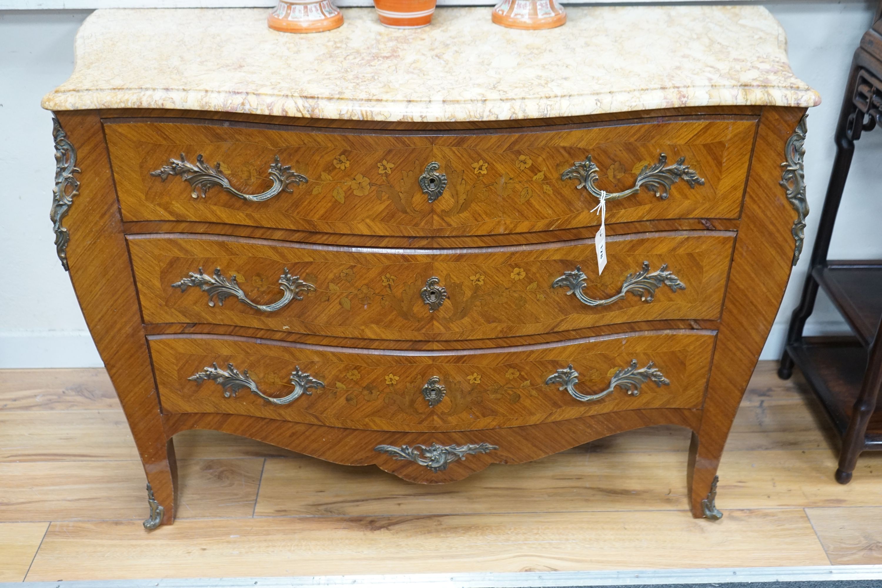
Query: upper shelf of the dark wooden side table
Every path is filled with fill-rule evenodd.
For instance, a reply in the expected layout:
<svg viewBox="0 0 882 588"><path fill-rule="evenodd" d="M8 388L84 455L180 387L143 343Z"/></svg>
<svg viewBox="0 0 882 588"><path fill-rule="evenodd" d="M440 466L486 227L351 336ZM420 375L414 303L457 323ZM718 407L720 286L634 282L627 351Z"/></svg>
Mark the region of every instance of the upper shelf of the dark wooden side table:
<svg viewBox="0 0 882 588"><path fill-rule="evenodd" d="M828 261L811 274L869 348L882 318L882 260Z"/></svg>

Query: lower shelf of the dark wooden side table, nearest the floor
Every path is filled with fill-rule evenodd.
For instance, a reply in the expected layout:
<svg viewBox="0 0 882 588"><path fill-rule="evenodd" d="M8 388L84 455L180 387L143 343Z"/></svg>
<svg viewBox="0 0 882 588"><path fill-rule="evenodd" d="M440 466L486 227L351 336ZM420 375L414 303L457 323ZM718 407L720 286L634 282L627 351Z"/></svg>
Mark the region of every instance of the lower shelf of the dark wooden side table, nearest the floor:
<svg viewBox="0 0 882 588"><path fill-rule="evenodd" d="M856 337L805 337L787 351L843 435L867 367L863 344ZM882 398L867 426L866 449L882 449Z"/></svg>

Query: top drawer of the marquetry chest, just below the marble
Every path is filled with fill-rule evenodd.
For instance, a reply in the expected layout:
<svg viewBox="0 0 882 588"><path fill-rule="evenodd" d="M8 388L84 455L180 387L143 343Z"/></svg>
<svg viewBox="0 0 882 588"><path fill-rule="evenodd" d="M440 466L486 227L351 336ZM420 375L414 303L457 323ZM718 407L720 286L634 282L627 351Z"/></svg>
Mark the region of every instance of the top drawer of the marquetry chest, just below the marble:
<svg viewBox="0 0 882 588"><path fill-rule="evenodd" d="M756 124L717 116L432 134L108 122L105 132L124 220L433 236L599 224L597 197L562 178L570 168L584 178L596 167L595 193L642 184L608 203L610 223L736 219ZM669 169L654 173L662 154ZM676 167L681 158L689 169Z"/></svg>

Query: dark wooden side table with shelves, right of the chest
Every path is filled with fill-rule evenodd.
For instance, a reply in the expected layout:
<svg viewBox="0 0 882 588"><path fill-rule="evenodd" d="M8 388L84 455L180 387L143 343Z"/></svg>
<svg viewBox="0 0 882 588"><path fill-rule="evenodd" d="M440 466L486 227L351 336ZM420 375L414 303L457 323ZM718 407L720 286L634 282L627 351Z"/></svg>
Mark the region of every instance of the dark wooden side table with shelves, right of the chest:
<svg viewBox="0 0 882 588"><path fill-rule="evenodd" d="M864 450L882 450L882 260L833 261L827 259L830 237L855 141L864 131L882 124L882 3L869 31L863 34L848 75L845 99L836 127L836 157L827 186L824 210L811 271L803 298L790 319L787 346L778 376L793 374L798 366L818 395L842 437L836 481L848 484L857 458ZM818 287L823 287L845 317L848 337L804 337Z"/></svg>

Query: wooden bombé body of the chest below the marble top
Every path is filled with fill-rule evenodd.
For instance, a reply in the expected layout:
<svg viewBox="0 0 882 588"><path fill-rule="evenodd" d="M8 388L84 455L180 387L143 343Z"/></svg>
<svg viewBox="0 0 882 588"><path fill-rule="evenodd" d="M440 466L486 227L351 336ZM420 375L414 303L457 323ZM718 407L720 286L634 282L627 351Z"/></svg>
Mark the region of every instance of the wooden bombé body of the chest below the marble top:
<svg viewBox="0 0 882 588"><path fill-rule="evenodd" d="M776 92L813 103L791 78ZM804 106L412 123L56 94L56 245L146 527L174 518L188 428L440 483L676 424L692 514L721 516L723 443L802 248Z"/></svg>

